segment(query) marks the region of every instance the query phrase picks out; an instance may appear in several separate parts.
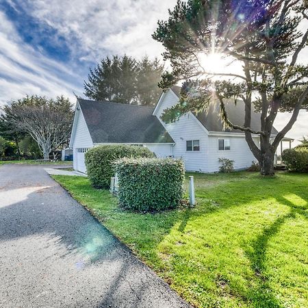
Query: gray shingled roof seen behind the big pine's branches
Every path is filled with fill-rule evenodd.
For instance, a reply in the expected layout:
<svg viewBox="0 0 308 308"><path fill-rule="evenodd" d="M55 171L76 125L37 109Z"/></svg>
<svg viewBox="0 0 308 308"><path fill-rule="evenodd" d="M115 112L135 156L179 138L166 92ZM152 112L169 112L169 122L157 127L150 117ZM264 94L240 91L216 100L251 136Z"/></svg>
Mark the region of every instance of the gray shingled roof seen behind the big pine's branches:
<svg viewBox="0 0 308 308"><path fill-rule="evenodd" d="M172 86L171 90L180 97L181 87ZM244 102L237 100L235 105L234 101L229 101L226 104L227 115L231 123L235 125L244 125ZM239 129L224 129L224 125L220 118L220 107L218 103L212 103L207 112L199 112L194 114L196 118L208 131L225 131L232 133L243 133ZM261 114L257 112L251 112L251 129L259 131L261 129L260 122ZM277 135L278 131L273 127L272 135Z"/></svg>

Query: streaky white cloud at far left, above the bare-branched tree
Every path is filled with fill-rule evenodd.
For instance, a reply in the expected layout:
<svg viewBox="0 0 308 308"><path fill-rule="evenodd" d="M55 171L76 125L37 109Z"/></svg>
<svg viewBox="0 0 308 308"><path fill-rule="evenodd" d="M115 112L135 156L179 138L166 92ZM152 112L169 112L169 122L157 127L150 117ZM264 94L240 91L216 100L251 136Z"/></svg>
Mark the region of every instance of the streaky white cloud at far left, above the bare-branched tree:
<svg viewBox="0 0 308 308"><path fill-rule="evenodd" d="M0 20L0 105L25 94L64 94L74 101L73 91L79 89L66 81L75 77L73 73L23 43L3 12Z"/></svg>

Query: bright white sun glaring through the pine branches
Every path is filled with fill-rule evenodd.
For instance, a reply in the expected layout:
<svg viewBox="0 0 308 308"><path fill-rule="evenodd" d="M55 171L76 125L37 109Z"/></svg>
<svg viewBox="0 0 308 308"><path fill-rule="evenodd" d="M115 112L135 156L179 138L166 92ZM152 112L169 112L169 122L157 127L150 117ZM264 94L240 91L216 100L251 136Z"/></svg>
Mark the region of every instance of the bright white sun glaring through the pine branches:
<svg viewBox="0 0 308 308"><path fill-rule="evenodd" d="M222 53L201 53L198 55L198 64L207 73L225 73L228 66Z"/></svg>

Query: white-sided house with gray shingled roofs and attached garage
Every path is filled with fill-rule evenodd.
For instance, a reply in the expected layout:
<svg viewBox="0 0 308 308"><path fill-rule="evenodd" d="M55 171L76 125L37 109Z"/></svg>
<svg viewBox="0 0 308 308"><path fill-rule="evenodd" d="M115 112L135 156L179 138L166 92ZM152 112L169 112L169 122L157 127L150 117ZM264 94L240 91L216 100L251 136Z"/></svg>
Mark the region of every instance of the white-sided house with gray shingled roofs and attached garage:
<svg viewBox="0 0 308 308"><path fill-rule="evenodd" d="M234 160L235 170L251 166L255 161L244 133L224 129L219 106L213 104L207 112L189 112L175 123L164 123L160 116L166 108L179 101L180 88L174 86L162 93L155 108L103 101L77 99L70 148L73 149L74 169L86 172L84 154L101 144L136 144L146 146L157 157L181 157L185 169L217 172L218 158ZM242 125L244 103L227 105L231 122ZM252 112L251 127L258 129L260 114ZM277 133L274 129L273 135ZM253 137L259 144L259 136Z"/></svg>

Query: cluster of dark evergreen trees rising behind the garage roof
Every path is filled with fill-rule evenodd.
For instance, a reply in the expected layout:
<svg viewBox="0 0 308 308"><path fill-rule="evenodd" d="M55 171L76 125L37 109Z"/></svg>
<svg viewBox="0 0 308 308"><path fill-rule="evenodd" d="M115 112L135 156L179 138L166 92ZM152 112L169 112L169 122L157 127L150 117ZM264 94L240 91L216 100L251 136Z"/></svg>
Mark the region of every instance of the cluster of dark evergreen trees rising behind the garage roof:
<svg viewBox="0 0 308 308"><path fill-rule="evenodd" d="M84 81L84 94L96 101L153 105L161 90L157 86L164 66L157 59L138 61L124 55L105 57Z"/></svg>

